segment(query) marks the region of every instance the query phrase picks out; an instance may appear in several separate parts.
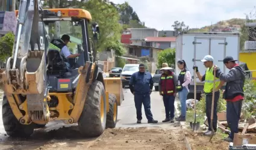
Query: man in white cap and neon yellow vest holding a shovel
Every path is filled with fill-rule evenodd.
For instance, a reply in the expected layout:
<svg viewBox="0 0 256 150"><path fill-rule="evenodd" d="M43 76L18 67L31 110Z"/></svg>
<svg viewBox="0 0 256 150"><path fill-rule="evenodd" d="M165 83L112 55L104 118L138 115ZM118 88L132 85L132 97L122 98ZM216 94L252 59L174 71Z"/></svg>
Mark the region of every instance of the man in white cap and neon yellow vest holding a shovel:
<svg viewBox="0 0 256 150"><path fill-rule="evenodd" d="M198 76L199 80L204 81L204 93L205 93L205 102L206 102L206 116L208 120L208 130L204 132L206 136L211 135L211 100L213 97L213 88L215 88L214 93L214 108L213 108L213 130L214 134L217 131L217 101L219 100L220 92L219 89L222 87L223 83L220 82L219 78L215 80L215 87L213 87L213 57L211 55L204 56L204 59L201 62L204 62L204 66L207 68L205 74L202 76L196 65L193 66L193 70L196 70L196 75Z"/></svg>

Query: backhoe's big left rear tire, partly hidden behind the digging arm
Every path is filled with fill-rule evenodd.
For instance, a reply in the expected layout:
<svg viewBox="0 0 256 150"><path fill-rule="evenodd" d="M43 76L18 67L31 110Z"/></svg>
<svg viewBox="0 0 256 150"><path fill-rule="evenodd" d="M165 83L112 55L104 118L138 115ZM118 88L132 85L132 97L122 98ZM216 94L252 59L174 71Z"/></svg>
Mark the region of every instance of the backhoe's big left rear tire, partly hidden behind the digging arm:
<svg viewBox="0 0 256 150"><path fill-rule="evenodd" d="M4 124L4 130L8 136L11 137L30 137L33 134L34 126L23 125L17 120L11 110L11 106L4 95L2 100L2 122Z"/></svg>

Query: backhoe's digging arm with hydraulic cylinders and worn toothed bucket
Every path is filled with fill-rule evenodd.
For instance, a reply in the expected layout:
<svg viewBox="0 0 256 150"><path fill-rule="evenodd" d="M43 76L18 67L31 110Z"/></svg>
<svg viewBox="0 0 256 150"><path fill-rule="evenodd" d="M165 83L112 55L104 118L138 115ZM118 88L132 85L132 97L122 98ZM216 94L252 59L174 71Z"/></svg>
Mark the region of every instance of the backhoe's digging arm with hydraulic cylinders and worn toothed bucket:
<svg viewBox="0 0 256 150"><path fill-rule="evenodd" d="M43 124L49 119L46 76L49 39L46 37L40 0L20 0L13 53L7 60L2 82L21 124ZM11 102L16 102L19 108ZM25 116L20 115L19 109L24 110Z"/></svg>

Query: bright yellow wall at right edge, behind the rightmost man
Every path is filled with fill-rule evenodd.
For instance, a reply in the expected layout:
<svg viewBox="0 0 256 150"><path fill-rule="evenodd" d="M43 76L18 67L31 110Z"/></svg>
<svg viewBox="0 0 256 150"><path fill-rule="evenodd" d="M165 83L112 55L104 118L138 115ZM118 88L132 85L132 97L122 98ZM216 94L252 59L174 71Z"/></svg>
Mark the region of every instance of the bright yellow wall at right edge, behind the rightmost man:
<svg viewBox="0 0 256 150"><path fill-rule="evenodd" d="M242 52L239 54L239 61L245 62L249 70L256 70L256 52ZM256 71L252 71L252 77L256 79Z"/></svg>

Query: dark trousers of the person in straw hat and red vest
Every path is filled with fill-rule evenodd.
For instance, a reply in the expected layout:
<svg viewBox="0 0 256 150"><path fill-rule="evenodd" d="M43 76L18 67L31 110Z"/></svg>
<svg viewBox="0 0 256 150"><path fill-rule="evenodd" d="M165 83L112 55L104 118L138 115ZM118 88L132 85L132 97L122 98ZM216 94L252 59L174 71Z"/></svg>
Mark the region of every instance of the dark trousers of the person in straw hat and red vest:
<svg viewBox="0 0 256 150"><path fill-rule="evenodd" d="M175 100L175 97L173 95L163 95L166 118L170 118L170 119L174 118L174 112L175 112L174 100Z"/></svg>

